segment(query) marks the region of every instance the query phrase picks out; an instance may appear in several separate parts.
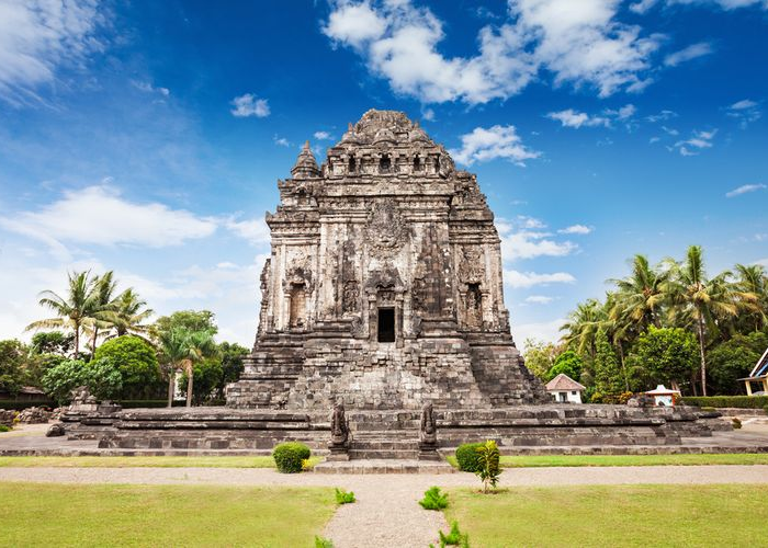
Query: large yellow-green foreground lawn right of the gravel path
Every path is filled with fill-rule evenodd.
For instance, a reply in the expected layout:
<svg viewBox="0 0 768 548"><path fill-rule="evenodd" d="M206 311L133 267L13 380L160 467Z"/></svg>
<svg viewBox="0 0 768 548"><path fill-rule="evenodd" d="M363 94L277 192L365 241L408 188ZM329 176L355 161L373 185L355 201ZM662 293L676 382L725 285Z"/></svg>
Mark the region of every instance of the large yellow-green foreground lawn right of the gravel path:
<svg viewBox="0 0 768 548"><path fill-rule="evenodd" d="M451 491L471 546L758 546L765 486L590 486Z"/></svg>

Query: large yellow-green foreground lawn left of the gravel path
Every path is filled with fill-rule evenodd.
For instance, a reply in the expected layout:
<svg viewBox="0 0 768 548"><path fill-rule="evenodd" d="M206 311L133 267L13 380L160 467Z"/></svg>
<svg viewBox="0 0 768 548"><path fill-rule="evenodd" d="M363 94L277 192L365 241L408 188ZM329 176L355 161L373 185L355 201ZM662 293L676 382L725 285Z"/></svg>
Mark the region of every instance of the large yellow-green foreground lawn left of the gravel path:
<svg viewBox="0 0 768 548"><path fill-rule="evenodd" d="M0 546L314 546L329 488L0 483Z"/></svg>

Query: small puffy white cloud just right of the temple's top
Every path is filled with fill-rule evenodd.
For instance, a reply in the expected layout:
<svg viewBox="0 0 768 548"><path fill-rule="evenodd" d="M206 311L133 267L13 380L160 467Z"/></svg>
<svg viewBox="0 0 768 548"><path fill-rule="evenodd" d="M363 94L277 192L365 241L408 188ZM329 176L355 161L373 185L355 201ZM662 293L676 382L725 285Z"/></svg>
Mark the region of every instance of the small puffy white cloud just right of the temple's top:
<svg viewBox="0 0 768 548"><path fill-rule="evenodd" d="M462 135L462 148L450 150L459 163L472 165L504 158L517 165L526 165L526 160L539 158L541 152L531 150L522 144L515 126L475 127L472 133Z"/></svg>

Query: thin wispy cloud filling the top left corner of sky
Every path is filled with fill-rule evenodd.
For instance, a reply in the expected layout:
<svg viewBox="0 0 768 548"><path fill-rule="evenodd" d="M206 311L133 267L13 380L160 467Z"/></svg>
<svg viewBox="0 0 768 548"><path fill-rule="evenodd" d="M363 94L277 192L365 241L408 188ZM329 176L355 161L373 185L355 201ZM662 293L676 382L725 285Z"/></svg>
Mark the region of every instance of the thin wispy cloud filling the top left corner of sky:
<svg viewBox="0 0 768 548"><path fill-rule="evenodd" d="M0 99L14 106L41 101L38 87L54 83L60 68L103 49L94 36L99 18L95 0L0 2Z"/></svg>

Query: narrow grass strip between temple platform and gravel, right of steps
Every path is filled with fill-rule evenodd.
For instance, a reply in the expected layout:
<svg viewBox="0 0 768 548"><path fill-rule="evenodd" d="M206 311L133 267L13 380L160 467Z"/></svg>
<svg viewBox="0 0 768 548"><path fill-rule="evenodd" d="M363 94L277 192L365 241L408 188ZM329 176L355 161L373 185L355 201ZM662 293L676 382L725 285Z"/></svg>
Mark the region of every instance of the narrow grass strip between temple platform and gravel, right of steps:
<svg viewBox="0 0 768 548"><path fill-rule="evenodd" d="M448 461L458 467L456 457ZM693 466L693 465L768 465L768 454L705 455L530 455L502 456L504 468L541 468L550 466Z"/></svg>

